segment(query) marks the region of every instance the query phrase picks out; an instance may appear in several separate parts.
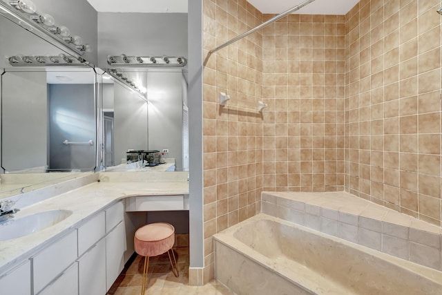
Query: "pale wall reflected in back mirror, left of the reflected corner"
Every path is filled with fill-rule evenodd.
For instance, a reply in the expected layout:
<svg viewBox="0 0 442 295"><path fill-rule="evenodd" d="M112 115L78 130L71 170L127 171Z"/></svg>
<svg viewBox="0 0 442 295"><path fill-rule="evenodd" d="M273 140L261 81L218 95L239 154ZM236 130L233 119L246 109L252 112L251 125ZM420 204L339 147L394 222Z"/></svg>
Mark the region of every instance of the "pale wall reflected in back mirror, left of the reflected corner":
<svg viewBox="0 0 442 295"><path fill-rule="evenodd" d="M148 149L147 103L117 83L114 84L113 131L115 164L121 164L128 149Z"/></svg>

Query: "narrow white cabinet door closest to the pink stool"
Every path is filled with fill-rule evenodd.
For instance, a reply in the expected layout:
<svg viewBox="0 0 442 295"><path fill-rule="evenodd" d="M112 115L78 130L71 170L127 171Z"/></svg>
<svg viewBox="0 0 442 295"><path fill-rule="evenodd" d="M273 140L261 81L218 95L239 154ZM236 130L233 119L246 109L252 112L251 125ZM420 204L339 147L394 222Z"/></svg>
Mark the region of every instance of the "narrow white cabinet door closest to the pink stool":
<svg viewBox="0 0 442 295"><path fill-rule="evenodd" d="M124 268L124 251L126 251L124 222L119 222L106 236L106 290L111 288Z"/></svg>

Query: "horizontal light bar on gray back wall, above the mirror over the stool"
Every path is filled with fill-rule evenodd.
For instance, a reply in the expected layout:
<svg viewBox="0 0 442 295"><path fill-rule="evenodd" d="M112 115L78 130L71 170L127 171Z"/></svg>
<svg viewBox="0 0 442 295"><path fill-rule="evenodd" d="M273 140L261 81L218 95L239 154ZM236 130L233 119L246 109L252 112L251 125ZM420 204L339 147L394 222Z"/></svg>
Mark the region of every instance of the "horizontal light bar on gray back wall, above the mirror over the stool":
<svg viewBox="0 0 442 295"><path fill-rule="evenodd" d="M110 66L144 66L144 67L183 67L187 64L184 57L141 57L127 55L113 55L108 57Z"/></svg>

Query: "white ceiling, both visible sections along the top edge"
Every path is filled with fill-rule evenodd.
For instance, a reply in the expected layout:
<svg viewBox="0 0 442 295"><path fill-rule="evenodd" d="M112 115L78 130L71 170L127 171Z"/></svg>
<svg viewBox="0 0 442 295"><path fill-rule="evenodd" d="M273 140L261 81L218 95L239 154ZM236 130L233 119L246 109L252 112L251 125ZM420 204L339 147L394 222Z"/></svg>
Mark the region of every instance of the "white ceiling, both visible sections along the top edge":
<svg viewBox="0 0 442 295"><path fill-rule="evenodd" d="M186 0L87 0L98 12L187 12ZM229 0L228 0L229 1ZM303 0L248 0L262 13L280 14ZM359 0L316 0L296 13L345 15Z"/></svg>

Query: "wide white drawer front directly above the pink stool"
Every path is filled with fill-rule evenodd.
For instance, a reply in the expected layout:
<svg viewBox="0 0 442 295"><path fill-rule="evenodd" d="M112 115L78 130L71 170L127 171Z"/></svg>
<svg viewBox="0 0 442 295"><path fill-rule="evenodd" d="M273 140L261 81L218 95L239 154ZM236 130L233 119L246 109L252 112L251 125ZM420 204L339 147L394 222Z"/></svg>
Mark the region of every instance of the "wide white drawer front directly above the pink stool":
<svg viewBox="0 0 442 295"><path fill-rule="evenodd" d="M184 196L144 196L126 200L126 211L184 210Z"/></svg>

